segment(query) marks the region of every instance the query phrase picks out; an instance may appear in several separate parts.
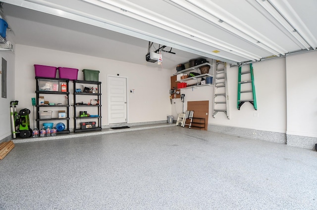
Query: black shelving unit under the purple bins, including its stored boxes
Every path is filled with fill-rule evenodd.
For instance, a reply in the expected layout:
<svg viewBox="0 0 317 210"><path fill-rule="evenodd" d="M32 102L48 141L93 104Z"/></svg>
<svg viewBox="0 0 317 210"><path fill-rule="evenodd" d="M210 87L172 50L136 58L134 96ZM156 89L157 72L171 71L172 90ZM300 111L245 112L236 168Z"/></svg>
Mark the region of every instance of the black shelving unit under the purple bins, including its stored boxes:
<svg viewBox="0 0 317 210"><path fill-rule="evenodd" d="M58 124L61 126L57 128L57 132L69 133L69 80L47 77L35 77L35 79L37 127L42 127L41 121L60 121ZM48 111L48 108L52 110Z"/></svg>

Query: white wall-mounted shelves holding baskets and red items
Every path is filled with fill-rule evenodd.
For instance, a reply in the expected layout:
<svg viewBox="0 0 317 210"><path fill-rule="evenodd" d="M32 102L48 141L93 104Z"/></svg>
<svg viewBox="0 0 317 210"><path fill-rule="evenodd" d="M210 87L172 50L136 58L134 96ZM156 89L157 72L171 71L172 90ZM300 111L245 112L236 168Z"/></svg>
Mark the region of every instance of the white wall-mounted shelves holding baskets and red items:
<svg viewBox="0 0 317 210"><path fill-rule="evenodd" d="M209 72L211 72L211 74ZM177 76L177 89L212 86L213 75L211 63L202 63L193 67L189 67L187 69L178 71L174 75Z"/></svg>

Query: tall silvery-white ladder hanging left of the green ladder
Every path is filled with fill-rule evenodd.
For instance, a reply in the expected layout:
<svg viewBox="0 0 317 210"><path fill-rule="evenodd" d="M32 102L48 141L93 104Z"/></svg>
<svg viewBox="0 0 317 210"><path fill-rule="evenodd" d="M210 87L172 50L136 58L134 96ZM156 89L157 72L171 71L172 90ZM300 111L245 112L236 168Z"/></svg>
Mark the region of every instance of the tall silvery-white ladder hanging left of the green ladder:
<svg viewBox="0 0 317 210"><path fill-rule="evenodd" d="M229 95L228 95L228 81L227 81L227 64L222 61L216 62L213 60L215 66L214 72L214 87L213 87L213 106L212 117L218 113L223 112L228 119L229 117Z"/></svg>

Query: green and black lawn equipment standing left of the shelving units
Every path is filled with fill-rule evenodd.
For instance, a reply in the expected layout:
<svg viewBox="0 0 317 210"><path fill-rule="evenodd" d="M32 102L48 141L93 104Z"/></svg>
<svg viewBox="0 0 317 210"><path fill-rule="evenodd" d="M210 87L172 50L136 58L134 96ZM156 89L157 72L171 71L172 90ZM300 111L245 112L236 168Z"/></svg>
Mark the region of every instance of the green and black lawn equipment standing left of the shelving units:
<svg viewBox="0 0 317 210"><path fill-rule="evenodd" d="M16 111L16 105L19 101L10 102L10 116L12 136L16 138L18 134L21 138L28 138L32 136L32 129L30 128L29 109L21 109L19 113Z"/></svg>

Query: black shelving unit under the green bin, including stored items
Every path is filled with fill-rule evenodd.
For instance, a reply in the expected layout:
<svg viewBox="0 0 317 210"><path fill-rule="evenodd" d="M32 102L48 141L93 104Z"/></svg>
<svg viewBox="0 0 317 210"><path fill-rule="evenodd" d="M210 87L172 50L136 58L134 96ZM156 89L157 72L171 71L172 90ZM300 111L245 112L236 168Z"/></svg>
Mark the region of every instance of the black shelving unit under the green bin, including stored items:
<svg viewBox="0 0 317 210"><path fill-rule="evenodd" d="M89 74L93 77L87 80L97 80L96 75L92 74L93 70L89 70ZM98 71L99 73L99 71ZM85 73L84 73L85 74ZM93 130L101 130L102 116L101 116L101 82L97 81L81 81L74 80L74 132L85 132ZM89 86L89 87L87 87ZM84 103L83 101L88 102ZM80 102L79 102L80 101ZM86 109L86 110L85 110ZM85 111L84 111L85 110ZM90 114L88 111L91 112ZM96 115L92 115L96 114ZM87 120L89 119L89 122ZM95 121L92 121L92 120ZM84 122L82 122L84 120Z"/></svg>

